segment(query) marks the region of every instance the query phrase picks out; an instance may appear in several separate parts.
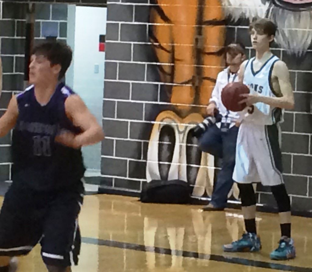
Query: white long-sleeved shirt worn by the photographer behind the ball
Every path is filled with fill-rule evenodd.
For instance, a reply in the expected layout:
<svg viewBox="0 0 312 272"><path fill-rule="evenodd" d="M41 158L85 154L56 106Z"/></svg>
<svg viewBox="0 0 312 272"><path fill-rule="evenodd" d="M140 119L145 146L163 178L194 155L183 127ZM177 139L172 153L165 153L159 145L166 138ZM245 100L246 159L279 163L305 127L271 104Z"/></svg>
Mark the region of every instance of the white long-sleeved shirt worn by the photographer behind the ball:
<svg viewBox="0 0 312 272"><path fill-rule="evenodd" d="M225 68L221 71L217 76L216 85L212 91L212 96L209 102L215 102L217 104L217 108L219 109L222 117L222 123L230 123L230 127L235 125L235 121L239 118L237 112L228 111L226 107L222 104L221 93L222 89L230 82L238 82L237 74L232 74L229 72L229 68ZM221 122L217 123L217 127L220 128Z"/></svg>

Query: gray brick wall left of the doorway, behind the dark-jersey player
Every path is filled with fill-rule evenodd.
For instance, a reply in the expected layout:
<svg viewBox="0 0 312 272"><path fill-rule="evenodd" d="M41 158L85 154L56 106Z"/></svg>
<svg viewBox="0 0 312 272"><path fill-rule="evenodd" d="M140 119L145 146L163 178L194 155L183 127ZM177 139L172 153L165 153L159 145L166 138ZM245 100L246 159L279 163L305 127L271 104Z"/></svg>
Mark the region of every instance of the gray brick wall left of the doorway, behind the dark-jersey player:
<svg viewBox="0 0 312 272"><path fill-rule="evenodd" d="M0 1L0 45L3 88L0 98L1 115L12 95L23 90L26 3ZM35 42L44 40L42 25L54 23L58 39L66 41L67 5L36 4ZM0 139L0 181L11 179L11 137Z"/></svg>

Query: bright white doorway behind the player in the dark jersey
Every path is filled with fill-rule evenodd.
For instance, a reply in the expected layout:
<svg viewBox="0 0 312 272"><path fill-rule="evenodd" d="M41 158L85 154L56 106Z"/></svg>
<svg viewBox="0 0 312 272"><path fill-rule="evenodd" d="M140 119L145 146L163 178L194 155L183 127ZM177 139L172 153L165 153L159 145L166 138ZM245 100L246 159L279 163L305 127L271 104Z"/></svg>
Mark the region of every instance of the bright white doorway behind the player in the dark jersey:
<svg viewBox="0 0 312 272"><path fill-rule="evenodd" d="M67 43L73 48L73 63L66 84L80 95L102 125L105 52L99 51L100 35L106 34L107 8L69 5ZM87 175L100 174L101 143L82 148Z"/></svg>

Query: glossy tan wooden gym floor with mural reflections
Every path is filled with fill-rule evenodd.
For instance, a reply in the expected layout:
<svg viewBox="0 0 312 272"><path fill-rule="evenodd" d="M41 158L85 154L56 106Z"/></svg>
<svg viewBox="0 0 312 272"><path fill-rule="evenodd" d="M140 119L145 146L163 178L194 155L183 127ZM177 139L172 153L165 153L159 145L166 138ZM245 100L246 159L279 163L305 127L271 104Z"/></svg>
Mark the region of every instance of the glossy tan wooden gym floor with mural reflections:
<svg viewBox="0 0 312 272"><path fill-rule="evenodd" d="M280 238L278 216L259 213L259 253L224 253L243 232L239 210L201 212L201 206L143 204L137 198L85 196L80 214L80 263L73 272L312 271L312 219L293 217L297 258L271 261ZM46 271L37 246L19 272Z"/></svg>

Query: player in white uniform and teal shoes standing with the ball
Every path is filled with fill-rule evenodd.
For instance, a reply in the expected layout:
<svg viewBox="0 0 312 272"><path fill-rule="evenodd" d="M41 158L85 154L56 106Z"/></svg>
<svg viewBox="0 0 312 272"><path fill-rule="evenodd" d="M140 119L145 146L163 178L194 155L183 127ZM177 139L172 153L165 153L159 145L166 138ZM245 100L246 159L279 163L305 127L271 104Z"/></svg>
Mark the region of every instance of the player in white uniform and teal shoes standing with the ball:
<svg viewBox="0 0 312 272"><path fill-rule="evenodd" d="M282 176L282 158L279 145L279 126L283 120L282 109L293 109L294 96L289 71L284 62L270 51L276 26L267 19L250 25L250 35L256 57L245 61L239 79L249 86L250 94L241 103L247 103L242 112L236 145L236 165L233 179L238 183L246 232L238 241L224 245L224 251L259 251L260 238L256 231L256 196L252 182L270 186L277 202L281 239L273 260L295 257L294 241L290 236L290 199Z"/></svg>

